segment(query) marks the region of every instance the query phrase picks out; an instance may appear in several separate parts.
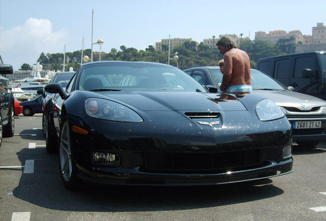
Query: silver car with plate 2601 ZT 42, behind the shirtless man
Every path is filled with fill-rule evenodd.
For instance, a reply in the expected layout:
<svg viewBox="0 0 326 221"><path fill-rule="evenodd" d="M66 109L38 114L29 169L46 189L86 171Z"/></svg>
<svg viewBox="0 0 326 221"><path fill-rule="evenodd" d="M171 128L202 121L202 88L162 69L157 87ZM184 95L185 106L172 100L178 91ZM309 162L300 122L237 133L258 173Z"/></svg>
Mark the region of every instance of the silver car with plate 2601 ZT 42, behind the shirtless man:
<svg viewBox="0 0 326 221"><path fill-rule="evenodd" d="M219 67L197 67L185 72L204 85L218 88L223 76ZM288 117L293 141L299 146L314 148L320 141L326 140L326 101L290 91L258 70L251 70L251 81L254 94L261 94L274 101Z"/></svg>

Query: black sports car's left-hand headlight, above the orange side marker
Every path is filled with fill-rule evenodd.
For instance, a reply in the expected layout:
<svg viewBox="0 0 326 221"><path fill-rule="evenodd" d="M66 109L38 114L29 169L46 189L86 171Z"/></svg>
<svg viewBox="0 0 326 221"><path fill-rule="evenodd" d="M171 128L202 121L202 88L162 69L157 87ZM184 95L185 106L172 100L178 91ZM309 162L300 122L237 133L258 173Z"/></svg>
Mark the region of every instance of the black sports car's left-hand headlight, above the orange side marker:
<svg viewBox="0 0 326 221"><path fill-rule="evenodd" d="M89 98L85 101L86 113L103 120L140 123L141 117L132 109L113 101Z"/></svg>

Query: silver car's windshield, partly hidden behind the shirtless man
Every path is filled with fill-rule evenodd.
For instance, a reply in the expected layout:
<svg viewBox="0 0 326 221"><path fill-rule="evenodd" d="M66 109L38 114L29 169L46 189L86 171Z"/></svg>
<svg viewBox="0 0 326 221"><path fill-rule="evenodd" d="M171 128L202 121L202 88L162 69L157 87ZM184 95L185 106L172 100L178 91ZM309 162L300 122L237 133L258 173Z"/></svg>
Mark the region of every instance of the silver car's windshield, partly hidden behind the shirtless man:
<svg viewBox="0 0 326 221"><path fill-rule="evenodd" d="M220 86L223 77L220 70L213 69L211 72L216 84ZM288 90L286 86L280 84L273 78L253 69L251 70L251 84L253 90Z"/></svg>

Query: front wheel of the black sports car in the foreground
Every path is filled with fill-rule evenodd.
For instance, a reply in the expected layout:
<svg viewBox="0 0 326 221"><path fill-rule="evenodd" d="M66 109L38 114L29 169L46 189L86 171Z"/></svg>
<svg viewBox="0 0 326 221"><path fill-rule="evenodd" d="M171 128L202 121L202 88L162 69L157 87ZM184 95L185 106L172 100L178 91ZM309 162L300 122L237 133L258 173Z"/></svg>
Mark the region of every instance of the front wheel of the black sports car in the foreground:
<svg viewBox="0 0 326 221"><path fill-rule="evenodd" d="M60 130L60 175L64 186L69 190L78 189L80 179L77 176L77 167L72 151L71 130L68 121L63 122Z"/></svg>

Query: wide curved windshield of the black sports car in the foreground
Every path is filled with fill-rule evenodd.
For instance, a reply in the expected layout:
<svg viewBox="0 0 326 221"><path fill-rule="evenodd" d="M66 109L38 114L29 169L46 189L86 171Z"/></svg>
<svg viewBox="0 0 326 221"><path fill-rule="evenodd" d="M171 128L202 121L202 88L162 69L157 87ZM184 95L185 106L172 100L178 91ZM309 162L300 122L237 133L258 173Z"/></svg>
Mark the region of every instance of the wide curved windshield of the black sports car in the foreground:
<svg viewBox="0 0 326 221"><path fill-rule="evenodd" d="M175 67L140 62L103 62L85 65L80 69L76 89L207 92L205 87Z"/></svg>

